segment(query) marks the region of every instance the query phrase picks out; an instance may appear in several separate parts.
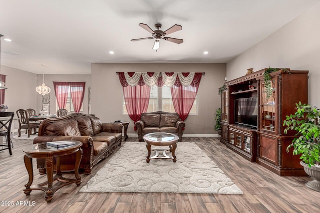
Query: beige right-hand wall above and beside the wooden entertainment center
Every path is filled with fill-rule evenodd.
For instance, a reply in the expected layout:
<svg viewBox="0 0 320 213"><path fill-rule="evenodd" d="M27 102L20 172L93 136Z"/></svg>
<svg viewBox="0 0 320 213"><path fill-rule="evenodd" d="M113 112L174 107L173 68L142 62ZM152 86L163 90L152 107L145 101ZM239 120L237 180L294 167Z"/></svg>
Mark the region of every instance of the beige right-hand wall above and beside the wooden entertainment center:
<svg viewBox="0 0 320 213"><path fill-rule="evenodd" d="M243 52L226 65L227 80L247 68L284 67L309 70L308 100L320 107L320 3ZM298 82L297 82L298 83Z"/></svg>

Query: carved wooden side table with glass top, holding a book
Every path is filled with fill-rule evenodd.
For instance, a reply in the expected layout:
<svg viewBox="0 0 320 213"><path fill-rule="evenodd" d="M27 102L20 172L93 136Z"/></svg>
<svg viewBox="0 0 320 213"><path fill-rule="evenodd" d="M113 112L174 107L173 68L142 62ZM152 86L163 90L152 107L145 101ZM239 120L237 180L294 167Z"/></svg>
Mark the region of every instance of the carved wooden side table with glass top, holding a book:
<svg viewBox="0 0 320 213"><path fill-rule="evenodd" d="M81 184L81 176L78 173L80 161L82 158L82 149L80 148L82 143L79 141L73 141L75 144L64 148L50 148L46 146L46 143L33 144L29 149L23 149L25 156L23 158L25 168L29 175L29 181L25 184L24 194L30 195L31 190L42 190L45 192L44 199L47 203L51 202L53 194L66 185L75 183L76 186ZM62 177L60 171L60 157L64 155L76 154L75 165L74 165L74 176L75 179L66 179ZM39 184L38 186L31 186L33 182L33 168L32 168L32 158L45 158L46 176L47 181ZM56 160L56 175L53 177L53 159ZM53 181L59 181L60 183L52 188ZM47 185L47 187L43 187Z"/></svg>

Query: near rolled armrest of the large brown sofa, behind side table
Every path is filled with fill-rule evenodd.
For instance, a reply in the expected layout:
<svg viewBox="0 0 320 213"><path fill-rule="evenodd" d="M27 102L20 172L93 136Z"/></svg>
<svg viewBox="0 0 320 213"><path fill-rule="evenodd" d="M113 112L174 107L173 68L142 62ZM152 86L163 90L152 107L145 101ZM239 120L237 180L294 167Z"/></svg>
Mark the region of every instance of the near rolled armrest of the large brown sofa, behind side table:
<svg viewBox="0 0 320 213"><path fill-rule="evenodd" d="M42 135L35 137L33 144L48 141L80 141L82 142L82 147L89 147L92 145L93 140L90 136Z"/></svg>

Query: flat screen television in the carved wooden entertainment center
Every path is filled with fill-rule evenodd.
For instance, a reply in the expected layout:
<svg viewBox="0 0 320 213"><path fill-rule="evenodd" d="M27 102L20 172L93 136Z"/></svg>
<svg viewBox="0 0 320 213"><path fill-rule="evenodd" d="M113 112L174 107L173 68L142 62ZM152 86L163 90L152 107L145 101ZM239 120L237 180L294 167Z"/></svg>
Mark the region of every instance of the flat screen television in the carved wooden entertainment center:
<svg viewBox="0 0 320 213"><path fill-rule="evenodd" d="M257 97L235 99L234 123L257 128L257 113Z"/></svg>

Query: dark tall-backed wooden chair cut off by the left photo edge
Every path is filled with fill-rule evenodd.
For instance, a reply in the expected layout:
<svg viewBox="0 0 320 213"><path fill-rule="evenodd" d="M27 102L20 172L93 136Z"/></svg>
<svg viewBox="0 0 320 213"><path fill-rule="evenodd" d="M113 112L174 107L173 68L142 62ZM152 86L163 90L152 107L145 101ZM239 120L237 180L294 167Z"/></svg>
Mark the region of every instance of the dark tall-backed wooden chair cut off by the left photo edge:
<svg viewBox="0 0 320 213"><path fill-rule="evenodd" d="M10 134L11 134L11 124L13 120L14 112L0 112L0 136L6 136L6 145L2 143L2 150L9 150L9 154L12 155L11 145L13 147ZM4 119L6 117L6 119ZM2 119L3 118L3 119Z"/></svg>

